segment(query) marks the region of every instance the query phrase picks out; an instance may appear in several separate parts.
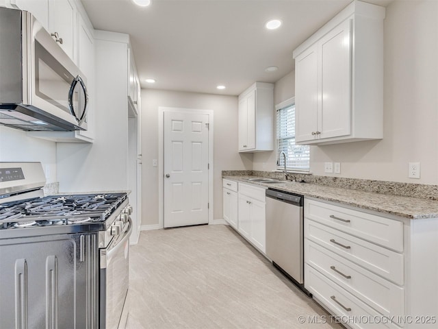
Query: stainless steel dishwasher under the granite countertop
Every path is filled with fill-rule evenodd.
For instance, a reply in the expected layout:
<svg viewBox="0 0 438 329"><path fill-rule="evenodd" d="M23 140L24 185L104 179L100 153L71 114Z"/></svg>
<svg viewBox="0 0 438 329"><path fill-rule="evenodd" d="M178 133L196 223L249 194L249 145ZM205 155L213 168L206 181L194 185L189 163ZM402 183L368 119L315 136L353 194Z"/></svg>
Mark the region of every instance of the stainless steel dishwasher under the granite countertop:
<svg viewBox="0 0 438 329"><path fill-rule="evenodd" d="M304 197L266 190L266 254L272 264L304 289Z"/></svg>

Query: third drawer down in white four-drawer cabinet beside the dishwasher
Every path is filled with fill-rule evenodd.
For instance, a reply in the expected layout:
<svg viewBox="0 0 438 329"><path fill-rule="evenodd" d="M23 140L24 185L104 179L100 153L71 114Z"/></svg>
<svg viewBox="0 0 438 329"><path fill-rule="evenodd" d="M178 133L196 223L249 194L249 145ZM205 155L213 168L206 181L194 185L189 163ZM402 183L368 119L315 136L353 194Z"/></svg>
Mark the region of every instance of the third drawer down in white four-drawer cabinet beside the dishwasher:
<svg viewBox="0 0 438 329"><path fill-rule="evenodd" d="M305 239L306 263L387 317L404 315L404 289Z"/></svg>

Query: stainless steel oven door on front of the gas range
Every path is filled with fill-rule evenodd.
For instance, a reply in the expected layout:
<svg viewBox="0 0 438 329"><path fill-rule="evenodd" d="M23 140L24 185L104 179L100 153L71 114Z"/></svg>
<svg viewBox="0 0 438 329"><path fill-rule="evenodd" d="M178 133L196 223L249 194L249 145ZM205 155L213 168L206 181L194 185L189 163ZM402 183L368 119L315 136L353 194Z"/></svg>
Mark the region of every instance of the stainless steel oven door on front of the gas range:
<svg viewBox="0 0 438 329"><path fill-rule="evenodd" d="M124 328L126 324L126 318L124 323L120 319L122 313L127 314L124 306L129 287L131 232L132 222L129 219L129 228L118 242L108 249L100 249L99 328L101 329Z"/></svg>

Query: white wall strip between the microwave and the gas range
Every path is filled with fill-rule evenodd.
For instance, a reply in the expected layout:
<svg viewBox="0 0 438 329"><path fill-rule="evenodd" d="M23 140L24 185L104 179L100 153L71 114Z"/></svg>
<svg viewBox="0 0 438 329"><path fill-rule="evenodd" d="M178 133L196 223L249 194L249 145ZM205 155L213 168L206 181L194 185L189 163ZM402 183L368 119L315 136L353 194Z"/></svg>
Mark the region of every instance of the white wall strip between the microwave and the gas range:
<svg viewBox="0 0 438 329"><path fill-rule="evenodd" d="M41 162L48 183L57 181L56 143L0 125L0 162Z"/></svg>

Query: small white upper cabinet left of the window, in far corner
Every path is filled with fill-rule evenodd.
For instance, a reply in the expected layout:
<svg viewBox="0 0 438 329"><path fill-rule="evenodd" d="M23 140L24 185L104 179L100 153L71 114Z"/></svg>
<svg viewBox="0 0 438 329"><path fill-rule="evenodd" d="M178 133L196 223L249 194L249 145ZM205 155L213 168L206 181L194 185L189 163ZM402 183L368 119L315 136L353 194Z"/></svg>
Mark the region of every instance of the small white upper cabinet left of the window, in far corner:
<svg viewBox="0 0 438 329"><path fill-rule="evenodd" d="M256 82L239 96L239 151L274 149L274 85Z"/></svg>

